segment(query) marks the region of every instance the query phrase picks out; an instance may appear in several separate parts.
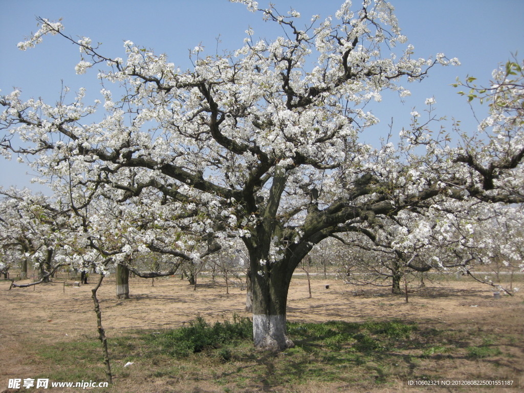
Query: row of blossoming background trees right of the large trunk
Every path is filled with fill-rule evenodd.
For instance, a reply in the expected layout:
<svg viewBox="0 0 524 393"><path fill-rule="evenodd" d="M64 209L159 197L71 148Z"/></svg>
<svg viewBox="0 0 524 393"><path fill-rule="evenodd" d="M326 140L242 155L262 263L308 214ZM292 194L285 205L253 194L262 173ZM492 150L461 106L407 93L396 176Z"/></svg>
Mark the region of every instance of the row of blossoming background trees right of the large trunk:
<svg viewBox="0 0 524 393"><path fill-rule="evenodd" d="M408 279L417 277L423 285L431 277L427 272L471 276L511 294L518 290L512 275L523 268L523 213L521 206L486 203L409 212L373 231L326 239L313 248L312 258L348 283L390 287L395 294L404 293Z"/></svg>

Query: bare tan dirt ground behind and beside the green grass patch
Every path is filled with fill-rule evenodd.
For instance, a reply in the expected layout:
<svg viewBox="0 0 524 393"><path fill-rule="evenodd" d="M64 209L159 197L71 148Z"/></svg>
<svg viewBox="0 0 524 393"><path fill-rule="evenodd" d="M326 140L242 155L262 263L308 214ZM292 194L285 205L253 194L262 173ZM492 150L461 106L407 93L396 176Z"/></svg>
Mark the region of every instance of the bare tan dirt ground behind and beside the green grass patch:
<svg viewBox="0 0 524 393"><path fill-rule="evenodd" d="M179 276L157 279L154 286L150 279L134 278L130 280L131 298L118 300L114 277L105 279L98 297L106 335L111 338L129 330L176 328L197 314L209 321L231 318L233 313L249 316L244 312L246 292L241 287L230 287L230 293L226 294L223 281L201 282L193 291ZM8 290L9 283L0 282L0 392L7 388L9 378L26 378L45 371L46 365L38 364L34 355L25 351L27 343L97 337L91 299L95 278L80 287L54 282ZM387 288L363 289L341 281L314 279L313 297L309 299L307 280L297 277L289 291L288 320L360 322L395 318L435 328L481 326L490 334L518 331L524 337L524 293L494 299L492 288L466 278L413 289L409 303L387 291ZM514 350L513 361L524 359L522 340ZM515 364L514 369L524 382L524 365Z"/></svg>

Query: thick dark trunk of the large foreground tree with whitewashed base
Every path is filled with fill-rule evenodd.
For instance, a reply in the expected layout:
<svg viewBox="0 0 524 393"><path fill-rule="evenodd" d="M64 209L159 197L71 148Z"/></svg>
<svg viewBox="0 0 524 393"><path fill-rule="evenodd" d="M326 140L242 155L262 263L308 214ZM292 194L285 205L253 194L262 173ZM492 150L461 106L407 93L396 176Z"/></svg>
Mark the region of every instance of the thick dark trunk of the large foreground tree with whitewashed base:
<svg viewBox="0 0 524 393"><path fill-rule="evenodd" d="M286 305L291 275L287 274L285 264L272 266L269 272L266 269L253 269L251 276L255 347L274 352L294 347L286 328Z"/></svg>

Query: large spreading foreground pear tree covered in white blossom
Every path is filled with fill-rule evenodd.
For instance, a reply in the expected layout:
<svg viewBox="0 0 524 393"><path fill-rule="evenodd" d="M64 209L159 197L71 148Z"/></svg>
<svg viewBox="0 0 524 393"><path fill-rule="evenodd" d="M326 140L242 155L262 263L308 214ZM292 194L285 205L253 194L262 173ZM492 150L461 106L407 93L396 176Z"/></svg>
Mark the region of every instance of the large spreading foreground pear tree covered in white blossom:
<svg viewBox="0 0 524 393"><path fill-rule="evenodd" d="M116 264L154 277L165 272L139 271L137 254L169 256L174 269L241 241L254 343L282 350L293 345L286 332L291 276L325 239L351 244L353 235L365 236L364 246L402 266L445 267L433 256L417 258L433 238L466 252L461 212L477 201L524 200L522 70L510 62L487 89L468 86L471 100L492 100L490 116L459 145L413 112L397 146L371 146L361 136L377 119L364 105L380 101L384 90L407 95L402 83L457 60L414 58L383 0L345 2L334 18L313 17L304 29L296 11L283 16L238 2L285 34L257 41L248 30L242 48L222 55L204 56L197 47L190 70L130 41L126 59L106 56L89 38L75 40L60 23L39 19L19 47L46 35L73 42L81 52L77 72L99 68L102 98L90 105L84 89L64 91L49 105L24 101L20 91L2 95L0 146L6 156L31 157L60 195L37 222L67 222L64 237L49 228L51 243L32 255L43 260L52 252L101 272ZM437 216L434 227L427 223Z"/></svg>

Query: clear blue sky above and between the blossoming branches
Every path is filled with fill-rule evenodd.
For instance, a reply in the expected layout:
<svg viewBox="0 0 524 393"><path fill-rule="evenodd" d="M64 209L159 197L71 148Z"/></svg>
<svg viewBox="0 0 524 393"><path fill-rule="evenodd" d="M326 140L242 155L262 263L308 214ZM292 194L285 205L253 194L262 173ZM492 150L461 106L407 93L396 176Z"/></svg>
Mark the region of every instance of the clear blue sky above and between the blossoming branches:
<svg viewBox="0 0 524 393"><path fill-rule="evenodd" d="M343 0L272 0L281 13L289 7L297 9L303 23L311 15L334 15ZM491 72L511 53L524 56L524 1L522 0L390 0L402 34L415 47L419 57L442 52L457 57L460 67L438 67L422 83L406 86L412 95L404 103L398 97L386 95L374 108L381 123L366 136L370 143L389 130L391 117L393 132L409 126L413 107L421 112L424 100L434 96L439 116L462 121L463 128L474 129L476 123L469 105L450 86L456 77L464 79L475 75L488 82ZM260 7L268 2L260 0ZM355 0L354 5L358 6ZM242 46L245 30L251 26L255 37L273 38L281 33L278 26L261 21L260 14L247 12L241 4L227 0L104 0L80 2L75 0L0 0L0 89L2 93L13 87L23 97L42 97L48 103L59 99L62 80L72 91L88 89L88 96L100 91L96 71L75 75L74 66L80 60L77 47L58 37L47 37L42 45L20 51L16 44L37 30L36 16L57 20L63 18L65 32L73 37L90 37L102 42L101 52L108 57L124 57L123 41L132 40L140 46L165 52L171 62L182 69L190 66L188 50L199 43L206 51L215 52L217 37L219 50L235 50ZM486 108L478 113L485 116ZM27 166L0 158L0 185L15 185L42 190L30 185Z"/></svg>

